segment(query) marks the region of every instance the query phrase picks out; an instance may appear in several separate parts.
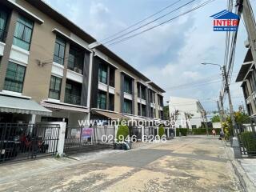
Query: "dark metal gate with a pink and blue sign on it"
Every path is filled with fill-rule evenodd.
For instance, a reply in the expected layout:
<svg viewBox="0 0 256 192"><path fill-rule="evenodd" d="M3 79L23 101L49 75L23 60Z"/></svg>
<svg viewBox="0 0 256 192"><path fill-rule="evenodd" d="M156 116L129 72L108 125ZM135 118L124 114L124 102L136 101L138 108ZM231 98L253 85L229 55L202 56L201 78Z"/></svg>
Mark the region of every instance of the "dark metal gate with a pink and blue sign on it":
<svg viewBox="0 0 256 192"><path fill-rule="evenodd" d="M113 147L114 126L67 126L64 153L76 154Z"/></svg>

